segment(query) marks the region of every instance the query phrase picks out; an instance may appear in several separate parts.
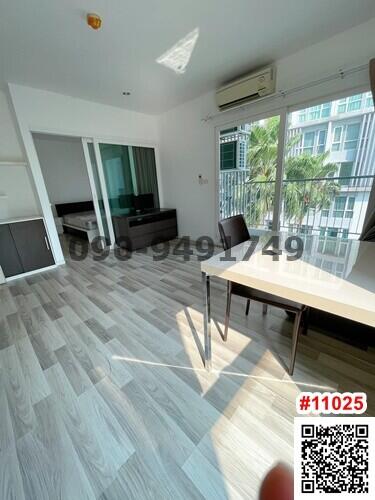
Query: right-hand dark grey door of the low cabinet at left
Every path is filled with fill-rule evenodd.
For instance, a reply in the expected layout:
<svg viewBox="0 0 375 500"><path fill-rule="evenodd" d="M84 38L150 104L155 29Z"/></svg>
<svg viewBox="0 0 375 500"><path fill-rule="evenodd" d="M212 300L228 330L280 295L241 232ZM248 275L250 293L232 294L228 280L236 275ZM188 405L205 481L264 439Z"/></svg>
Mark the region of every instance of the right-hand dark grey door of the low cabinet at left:
<svg viewBox="0 0 375 500"><path fill-rule="evenodd" d="M42 219L16 222L9 227L25 273L55 263Z"/></svg>

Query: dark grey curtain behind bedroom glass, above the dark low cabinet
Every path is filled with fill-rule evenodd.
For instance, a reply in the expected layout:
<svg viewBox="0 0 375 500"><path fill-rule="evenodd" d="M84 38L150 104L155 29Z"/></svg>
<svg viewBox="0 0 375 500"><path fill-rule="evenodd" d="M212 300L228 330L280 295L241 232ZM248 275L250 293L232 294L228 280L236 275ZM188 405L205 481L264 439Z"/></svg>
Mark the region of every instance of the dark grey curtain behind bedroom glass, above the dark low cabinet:
<svg viewBox="0 0 375 500"><path fill-rule="evenodd" d="M138 194L153 193L155 207L159 208L158 179L154 149L133 146L133 158Z"/></svg>

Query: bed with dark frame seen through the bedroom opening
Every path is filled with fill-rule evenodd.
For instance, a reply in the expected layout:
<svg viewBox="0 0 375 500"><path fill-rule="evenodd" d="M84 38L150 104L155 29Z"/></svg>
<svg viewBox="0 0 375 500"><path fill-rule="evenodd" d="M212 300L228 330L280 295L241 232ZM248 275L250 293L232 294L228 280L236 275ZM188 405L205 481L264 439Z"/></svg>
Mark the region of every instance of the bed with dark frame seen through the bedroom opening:
<svg viewBox="0 0 375 500"><path fill-rule="evenodd" d="M75 234L91 243L99 236L98 223L92 201L60 203L55 205L58 217L62 219L64 233Z"/></svg>

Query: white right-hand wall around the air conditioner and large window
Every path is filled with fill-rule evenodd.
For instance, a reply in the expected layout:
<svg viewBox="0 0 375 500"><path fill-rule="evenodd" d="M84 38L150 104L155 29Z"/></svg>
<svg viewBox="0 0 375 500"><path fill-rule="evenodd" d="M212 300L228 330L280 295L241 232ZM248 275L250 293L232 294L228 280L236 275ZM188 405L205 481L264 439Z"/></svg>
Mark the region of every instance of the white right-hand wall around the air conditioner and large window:
<svg viewBox="0 0 375 500"><path fill-rule="evenodd" d="M277 62L277 89L287 90L329 76L339 69L368 63L375 55L375 20L343 32ZM160 116L162 184L165 206L176 207L180 235L217 240L216 133L222 125L246 121L261 113L369 87L366 71L288 97L254 103L218 115L214 92ZM207 122L207 115L216 115ZM198 175L207 178L200 184Z"/></svg>

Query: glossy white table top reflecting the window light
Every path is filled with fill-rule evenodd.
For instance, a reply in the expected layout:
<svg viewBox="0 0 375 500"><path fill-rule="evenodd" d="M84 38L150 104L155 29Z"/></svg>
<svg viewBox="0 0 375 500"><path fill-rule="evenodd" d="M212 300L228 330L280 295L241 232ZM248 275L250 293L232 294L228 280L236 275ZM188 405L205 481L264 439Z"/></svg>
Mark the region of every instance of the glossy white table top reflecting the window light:
<svg viewBox="0 0 375 500"><path fill-rule="evenodd" d="M262 253L271 236L280 241L278 261ZM234 260L221 252L203 261L201 270L375 327L375 243L298 235L303 241L302 255L288 260L293 254L285 250L285 244L296 236L267 233L250 258L248 241L231 249Z"/></svg>

